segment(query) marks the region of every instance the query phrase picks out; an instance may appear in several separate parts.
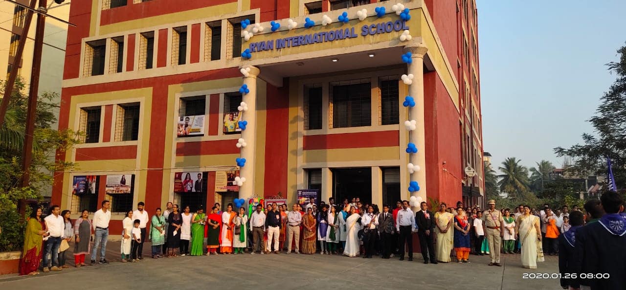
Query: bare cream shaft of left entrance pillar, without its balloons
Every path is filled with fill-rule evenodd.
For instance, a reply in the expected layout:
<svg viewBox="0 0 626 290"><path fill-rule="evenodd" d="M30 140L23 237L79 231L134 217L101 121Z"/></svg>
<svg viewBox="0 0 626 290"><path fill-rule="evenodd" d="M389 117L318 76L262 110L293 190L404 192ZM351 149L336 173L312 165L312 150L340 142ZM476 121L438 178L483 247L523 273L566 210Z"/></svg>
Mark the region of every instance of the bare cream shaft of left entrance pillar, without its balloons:
<svg viewBox="0 0 626 290"><path fill-rule="evenodd" d="M254 192L254 160L255 160L255 140L257 132L257 76L260 71L255 66L248 66L250 73L244 76L244 84L248 85L249 93L242 96L242 101L248 105L247 111L242 111L241 120L247 121L248 125L241 132L241 138L244 138L246 147L241 148L241 158L245 158L245 165L239 169L239 176L245 177L244 184L239 187L239 198L249 199ZM235 160L233 160L234 162ZM259 194L262 196L263 194Z"/></svg>

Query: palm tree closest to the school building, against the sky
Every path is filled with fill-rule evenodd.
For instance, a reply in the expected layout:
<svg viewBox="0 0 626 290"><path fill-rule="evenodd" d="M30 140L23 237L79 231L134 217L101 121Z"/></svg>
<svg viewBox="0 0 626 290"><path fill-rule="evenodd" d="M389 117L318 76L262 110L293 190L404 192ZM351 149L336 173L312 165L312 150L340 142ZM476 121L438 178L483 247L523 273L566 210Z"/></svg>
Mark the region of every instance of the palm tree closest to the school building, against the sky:
<svg viewBox="0 0 626 290"><path fill-rule="evenodd" d="M506 192L515 197L521 192L528 190L528 168L520 165L521 160L515 157L506 158L502 166L498 167L502 174L498 175L498 187L501 192Z"/></svg>

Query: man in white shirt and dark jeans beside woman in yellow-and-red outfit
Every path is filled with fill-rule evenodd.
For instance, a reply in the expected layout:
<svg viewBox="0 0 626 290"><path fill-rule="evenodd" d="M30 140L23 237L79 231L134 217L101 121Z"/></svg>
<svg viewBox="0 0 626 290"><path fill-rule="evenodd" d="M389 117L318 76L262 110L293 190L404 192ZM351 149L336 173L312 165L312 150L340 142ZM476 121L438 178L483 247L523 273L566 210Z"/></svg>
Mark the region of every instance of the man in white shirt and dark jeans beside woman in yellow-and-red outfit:
<svg viewBox="0 0 626 290"><path fill-rule="evenodd" d="M61 246L61 239L65 238L65 220L59 214L61 214L61 207L53 205L50 207L50 215L44 219L46 230L50 233L46 241L46 249L43 252L44 272L49 272L50 270L61 271L61 267L59 267L59 246ZM52 257L52 267L49 269L48 255Z"/></svg>

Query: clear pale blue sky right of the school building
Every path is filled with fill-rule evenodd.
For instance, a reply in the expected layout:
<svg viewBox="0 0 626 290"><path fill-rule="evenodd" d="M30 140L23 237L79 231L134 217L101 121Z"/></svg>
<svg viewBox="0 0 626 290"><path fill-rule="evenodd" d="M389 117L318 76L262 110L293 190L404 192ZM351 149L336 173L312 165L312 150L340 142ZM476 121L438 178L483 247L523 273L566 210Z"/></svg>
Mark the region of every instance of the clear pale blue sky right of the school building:
<svg viewBox="0 0 626 290"><path fill-rule="evenodd" d="M626 1L477 0L484 149L560 167L554 147L593 133L606 63L626 43ZM498 172L499 173L499 172Z"/></svg>

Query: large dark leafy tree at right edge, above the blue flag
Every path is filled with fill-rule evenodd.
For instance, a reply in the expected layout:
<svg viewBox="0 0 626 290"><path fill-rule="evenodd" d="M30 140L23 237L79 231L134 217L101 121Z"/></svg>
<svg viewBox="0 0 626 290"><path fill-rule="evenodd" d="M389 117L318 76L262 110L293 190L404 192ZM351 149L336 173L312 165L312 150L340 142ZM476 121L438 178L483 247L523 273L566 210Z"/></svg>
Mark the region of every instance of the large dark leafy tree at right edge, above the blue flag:
<svg viewBox="0 0 626 290"><path fill-rule="evenodd" d="M619 61L607 64L608 70L617 78L600 98L595 115L588 120L592 123L593 135L583 133L583 144L554 150L559 157L572 157L573 165L565 170L577 176L590 173L605 176L605 156L610 157L615 183L623 189L626 182L626 46L617 49L617 54Z"/></svg>

